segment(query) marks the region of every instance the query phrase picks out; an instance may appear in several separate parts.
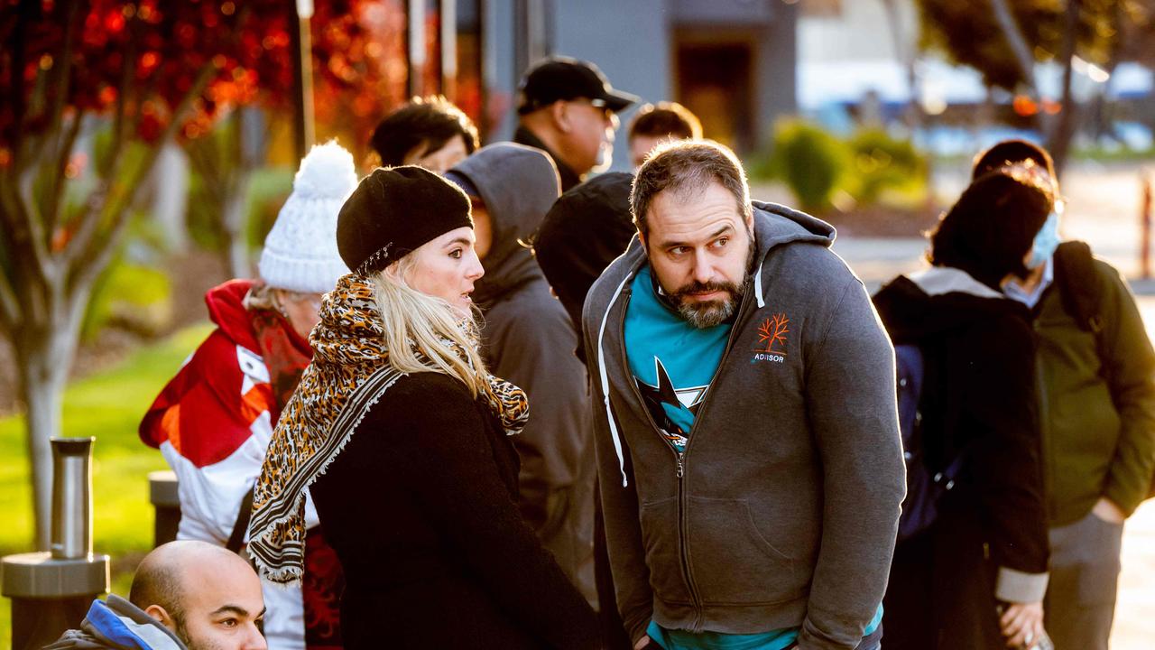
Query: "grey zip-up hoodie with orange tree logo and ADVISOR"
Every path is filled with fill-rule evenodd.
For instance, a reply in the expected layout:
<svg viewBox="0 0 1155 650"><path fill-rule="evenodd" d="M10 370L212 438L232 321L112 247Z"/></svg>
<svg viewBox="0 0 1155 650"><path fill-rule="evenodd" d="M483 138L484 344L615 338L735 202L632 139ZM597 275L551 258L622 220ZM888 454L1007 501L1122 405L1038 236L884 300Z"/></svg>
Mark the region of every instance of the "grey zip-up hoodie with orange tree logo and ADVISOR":
<svg viewBox="0 0 1155 650"><path fill-rule="evenodd" d="M635 237L583 311L595 442L631 638L800 627L855 648L877 612L906 492L894 350L834 229L754 204L755 273L679 459L625 359ZM774 334L784 335L783 339Z"/></svg>

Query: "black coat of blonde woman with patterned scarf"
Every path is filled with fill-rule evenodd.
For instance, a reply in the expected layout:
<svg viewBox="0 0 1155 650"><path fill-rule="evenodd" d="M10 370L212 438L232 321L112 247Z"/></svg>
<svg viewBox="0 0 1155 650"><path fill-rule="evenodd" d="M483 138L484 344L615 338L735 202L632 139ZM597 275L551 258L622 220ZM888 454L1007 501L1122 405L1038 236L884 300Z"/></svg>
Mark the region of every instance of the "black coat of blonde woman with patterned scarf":
<svg viewBox="0 0 1155 650"><path fill-rule="evenodd" d="M596 647L517 512L509 438L460 381L398 379L311 494L345 571L345 648Z"/></svg>

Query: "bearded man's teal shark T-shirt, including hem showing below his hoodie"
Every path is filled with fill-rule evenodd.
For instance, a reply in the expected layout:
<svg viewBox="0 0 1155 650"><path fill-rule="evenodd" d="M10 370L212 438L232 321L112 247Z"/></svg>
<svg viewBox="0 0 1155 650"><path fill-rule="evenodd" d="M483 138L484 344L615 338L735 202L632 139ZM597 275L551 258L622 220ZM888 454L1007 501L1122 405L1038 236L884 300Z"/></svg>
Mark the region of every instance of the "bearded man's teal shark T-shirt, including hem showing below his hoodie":
<svg viewBox="0 0 1155 650"><path fill-rule="evenodd" d="M732 323L698 328L666 306L654 291L650 268L638 272L626 306L626 361L646 408L677 452L686 450L690 429L725 354ZM882 605L866 627L882 622ZM665 629L650 621L646 630L665 650L782 650L798 638L798 628L760 634L723 634Z"/></svg>

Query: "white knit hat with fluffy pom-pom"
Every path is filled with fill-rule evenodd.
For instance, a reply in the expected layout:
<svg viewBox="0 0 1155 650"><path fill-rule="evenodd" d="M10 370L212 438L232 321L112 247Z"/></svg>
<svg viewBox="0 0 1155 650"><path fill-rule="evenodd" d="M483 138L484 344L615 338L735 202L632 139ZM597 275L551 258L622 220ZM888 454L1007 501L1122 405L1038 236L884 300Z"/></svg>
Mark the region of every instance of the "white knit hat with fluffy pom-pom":
<svg viewBox="0 0 1155 650"><path fill-rule="evenodd" d="M323 294L349 273L333 234L337 212L356 186L353 156L336 142L313 147L300 161L258 264L269 287Z"/></svg>

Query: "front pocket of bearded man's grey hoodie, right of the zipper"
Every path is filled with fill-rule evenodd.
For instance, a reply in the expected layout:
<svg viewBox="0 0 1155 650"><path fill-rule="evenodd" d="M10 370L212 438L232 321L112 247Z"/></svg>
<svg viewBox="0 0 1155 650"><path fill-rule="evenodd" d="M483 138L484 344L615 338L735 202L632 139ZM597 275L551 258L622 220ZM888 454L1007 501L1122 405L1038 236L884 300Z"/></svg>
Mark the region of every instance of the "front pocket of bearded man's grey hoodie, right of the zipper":
<svg viewBox="0 0 1155 650"><path fill-rule="evenodd" d="M802 596L793 560L769 542L745 501L690 497L690 561L702 603L780 603Z"/></svg>

